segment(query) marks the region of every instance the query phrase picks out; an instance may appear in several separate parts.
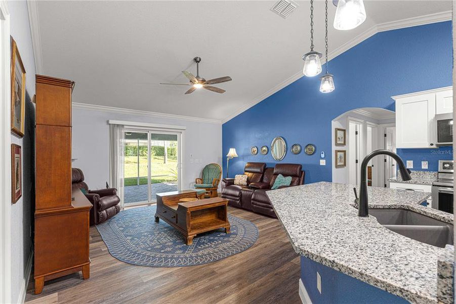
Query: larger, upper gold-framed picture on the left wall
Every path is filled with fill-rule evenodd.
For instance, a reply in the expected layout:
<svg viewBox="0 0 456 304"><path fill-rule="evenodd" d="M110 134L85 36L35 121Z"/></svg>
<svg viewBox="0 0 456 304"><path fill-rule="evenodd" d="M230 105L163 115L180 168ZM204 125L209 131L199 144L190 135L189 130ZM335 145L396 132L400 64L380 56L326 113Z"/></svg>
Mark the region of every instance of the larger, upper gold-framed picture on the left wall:
<svg viewBox="0 0 456 304"><path fill-rule="evenodd" d="M16 42L11 37L11 133L24 136L25 68Z"/></svg>

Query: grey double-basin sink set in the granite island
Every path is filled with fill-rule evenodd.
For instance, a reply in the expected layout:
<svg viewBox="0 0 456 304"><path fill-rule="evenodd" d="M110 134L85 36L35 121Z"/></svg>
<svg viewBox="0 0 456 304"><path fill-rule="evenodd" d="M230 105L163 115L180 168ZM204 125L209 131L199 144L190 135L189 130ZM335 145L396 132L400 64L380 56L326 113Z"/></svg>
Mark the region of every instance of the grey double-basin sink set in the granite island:
<svg viewBox="0 0 456 304"><path fill-rule="evenodd" d="M453 225L405 209L369 208L369 214L387 229L432 246L453 244Z"/></svg>

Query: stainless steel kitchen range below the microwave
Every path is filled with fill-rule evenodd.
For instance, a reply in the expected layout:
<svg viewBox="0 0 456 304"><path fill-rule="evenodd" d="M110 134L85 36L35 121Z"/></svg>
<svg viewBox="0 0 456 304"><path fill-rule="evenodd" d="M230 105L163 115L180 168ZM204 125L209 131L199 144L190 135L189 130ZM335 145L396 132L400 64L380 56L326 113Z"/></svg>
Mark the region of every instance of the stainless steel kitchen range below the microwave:
<svg viewBox="0 0 456 304"><path fill-rule="evenodd" d="M453 161L439 161L438 179L432 183L432 208L453 213Z"/></svg>

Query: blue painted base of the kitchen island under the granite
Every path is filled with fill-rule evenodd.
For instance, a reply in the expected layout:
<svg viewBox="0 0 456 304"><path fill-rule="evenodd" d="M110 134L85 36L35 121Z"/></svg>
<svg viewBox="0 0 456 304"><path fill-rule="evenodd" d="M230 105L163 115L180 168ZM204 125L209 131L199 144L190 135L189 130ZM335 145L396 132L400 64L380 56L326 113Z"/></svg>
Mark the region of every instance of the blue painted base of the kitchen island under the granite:
<svg viewBox="0 0 456 304"><path fill-rule="evenodd" d="M317 272L321 276L321 294L317 289ZM304 256L301 256L301 281L313 304L409 303L404 298L352 278Z"/></svg>

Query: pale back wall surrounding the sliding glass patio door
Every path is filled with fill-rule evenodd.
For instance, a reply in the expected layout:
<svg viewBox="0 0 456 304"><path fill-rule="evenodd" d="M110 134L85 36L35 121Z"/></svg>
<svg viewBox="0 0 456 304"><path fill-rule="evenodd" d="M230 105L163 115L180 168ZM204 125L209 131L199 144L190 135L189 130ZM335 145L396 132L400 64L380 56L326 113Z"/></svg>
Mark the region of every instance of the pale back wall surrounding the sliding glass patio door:
<svg viewBox="0 0 456 304"><path fill-rule="evenodd" d="M75 90L77 90L77 84ZM72 112L72 166L84 172L91 189L104 188L109 183L108 120L145 122L185 126L183 187L192 187L202 168L209 163L222 165L222 125L183 119L78 109ZM192 155L192 158L190 158Z"/></svg>

